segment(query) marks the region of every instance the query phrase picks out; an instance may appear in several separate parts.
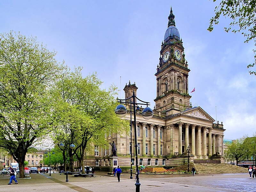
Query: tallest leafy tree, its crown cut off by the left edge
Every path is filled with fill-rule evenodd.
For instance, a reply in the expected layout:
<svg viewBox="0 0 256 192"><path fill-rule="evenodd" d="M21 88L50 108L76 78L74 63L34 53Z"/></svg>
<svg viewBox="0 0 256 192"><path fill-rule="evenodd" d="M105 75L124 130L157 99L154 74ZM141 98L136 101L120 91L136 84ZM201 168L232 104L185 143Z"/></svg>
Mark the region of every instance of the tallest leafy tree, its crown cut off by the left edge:
<svg viewBox="0 0 256 192"><path fill-rule="evenodd" d="M50 132L49 89L60 71L55 54L34 37L0 35L0 147L19 163L20 178L28 149Z"/></svg>

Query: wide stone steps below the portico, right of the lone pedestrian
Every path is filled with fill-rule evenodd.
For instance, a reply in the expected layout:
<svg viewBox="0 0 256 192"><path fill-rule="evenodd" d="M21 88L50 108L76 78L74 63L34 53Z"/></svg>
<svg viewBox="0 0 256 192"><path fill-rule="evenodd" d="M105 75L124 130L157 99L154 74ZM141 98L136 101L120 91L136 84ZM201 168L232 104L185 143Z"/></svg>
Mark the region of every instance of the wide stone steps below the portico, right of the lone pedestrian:
<svg viewBox="0 0 256 192"><path fill-rule="evenodd" d="M247 173L248 169L231 164L214 163L195 163L194 167L197 174L216 174L216 173ZM192 167L190 168L190 170Z"/></svg>

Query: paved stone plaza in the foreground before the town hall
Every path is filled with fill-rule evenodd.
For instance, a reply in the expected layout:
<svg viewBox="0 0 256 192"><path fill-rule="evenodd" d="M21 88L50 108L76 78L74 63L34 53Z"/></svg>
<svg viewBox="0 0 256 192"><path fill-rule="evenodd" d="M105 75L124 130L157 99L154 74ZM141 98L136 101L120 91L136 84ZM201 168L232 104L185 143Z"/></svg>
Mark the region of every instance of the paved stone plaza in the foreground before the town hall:
<svg viewBox="0 0 256 192"><path fill-rule="evenodd" d="M0 175L1 192L130 192L135 191L135 176L129 173L116 177L106 176L106 172L95 172L96 177L74 177L59 173L30 174L31 179L17 179L19 184L7 185L9 177ZM198 192L198 191L250 191L256 192L256 179L250 179L248 173L213 175L144 175L140 174L141 192Z"/></svg>

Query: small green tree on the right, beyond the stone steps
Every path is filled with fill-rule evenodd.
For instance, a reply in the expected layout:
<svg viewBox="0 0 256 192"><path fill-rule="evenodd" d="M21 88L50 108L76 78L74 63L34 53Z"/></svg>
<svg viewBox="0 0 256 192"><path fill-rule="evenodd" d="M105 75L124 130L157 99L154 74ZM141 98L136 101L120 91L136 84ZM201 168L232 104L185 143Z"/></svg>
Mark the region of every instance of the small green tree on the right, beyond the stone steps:
<svg viewBox="0 0 256 192"><path fill-rule="evenodd" d="M236 165L239 162L244 161L249 154L249 146L248 142L246 142L245 136L237 139L235 142L232 142L231 145L228 146L228 149L225 150L225 156L228 159L236 159Z"/></svg>

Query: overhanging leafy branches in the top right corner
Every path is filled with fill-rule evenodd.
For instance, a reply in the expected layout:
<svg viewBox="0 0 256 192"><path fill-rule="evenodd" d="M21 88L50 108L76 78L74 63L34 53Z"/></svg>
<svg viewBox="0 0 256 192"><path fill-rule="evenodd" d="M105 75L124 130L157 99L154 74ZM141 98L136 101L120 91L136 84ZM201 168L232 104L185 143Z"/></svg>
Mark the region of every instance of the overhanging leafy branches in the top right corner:
<svg viewBox="0 0 256 192"><path fill-rule="evenodd" d="M215 2L216 0L213 0ZM241 32L247 39L244 43L254 40L256 45L256 0L222 0L215 7L215 16L210 20L210 26L207 30L213 30L213 24L219 24L219 18L223 15L232 20L229 27L224 28L226 32L230 30L233 33ZM251 68L256 63L256 50L254 52L254 63L249 64L247 68ZM256 75L255 71L250 74Z"/></svg>

